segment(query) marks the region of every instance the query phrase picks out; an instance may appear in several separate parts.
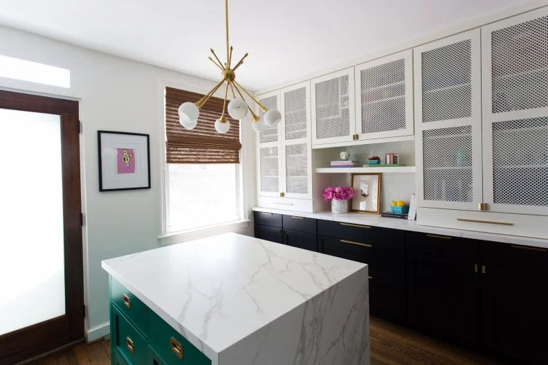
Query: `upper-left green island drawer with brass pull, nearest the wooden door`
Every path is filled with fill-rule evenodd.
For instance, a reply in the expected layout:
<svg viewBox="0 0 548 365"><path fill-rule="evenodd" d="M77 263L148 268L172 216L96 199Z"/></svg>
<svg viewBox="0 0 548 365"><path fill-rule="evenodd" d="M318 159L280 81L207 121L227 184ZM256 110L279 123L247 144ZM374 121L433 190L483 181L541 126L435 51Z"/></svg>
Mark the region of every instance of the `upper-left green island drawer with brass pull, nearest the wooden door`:
<svg viewBox="0 0 548 365"><path fill-rule="evenodd" d="M127 318L135 323L135 326L143 331L145 335L148 333L148 308L140 301L133 293L127 290L124 285L118 283L113 278L111 281L111 301L118 307L118 310L125 314Z"/></svg>

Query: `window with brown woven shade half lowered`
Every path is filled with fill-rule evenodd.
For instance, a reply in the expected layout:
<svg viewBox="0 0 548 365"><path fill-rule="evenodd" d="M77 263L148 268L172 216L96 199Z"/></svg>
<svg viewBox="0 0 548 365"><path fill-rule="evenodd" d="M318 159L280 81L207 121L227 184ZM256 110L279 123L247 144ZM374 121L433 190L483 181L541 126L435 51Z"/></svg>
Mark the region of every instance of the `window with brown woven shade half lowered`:
<svg viewBox="0 0 548 365"><path fill-rule="evenodd" d="M181 103L202 97L167 87L165 90L165 231L188 231L241 220L239 121L219 134L214 122L223 100L211 98L200 111L197 127L179 124Z"/></svg>

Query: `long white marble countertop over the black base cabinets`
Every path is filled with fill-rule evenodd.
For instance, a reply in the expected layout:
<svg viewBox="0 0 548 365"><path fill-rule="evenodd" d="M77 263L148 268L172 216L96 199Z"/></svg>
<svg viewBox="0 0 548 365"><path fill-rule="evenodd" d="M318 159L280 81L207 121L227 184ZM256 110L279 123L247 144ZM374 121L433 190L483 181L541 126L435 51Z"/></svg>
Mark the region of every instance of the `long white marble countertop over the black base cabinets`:
<svg viewBox="0 0 548 365"><path fill-rule="evenodd" d="M295 211L284 211L282 209L273 208L253 208L253 211L278 213L284 215L295 215L297 217L316 218L318 220L332 220L336 222L345 222L353 224L365 224L367 226L378 226L392 229L402 229L404 231L415 231L423 233L432 233L439 235L450 235L453 237L471 238L474 240L486 240L493 242L503 242L509 244L523 244L525 246L548 248L548 240L540 238L520 237L516 235L501 235L496 233L484 233L476 231L462 231L459 229L448 229L433 226L421 226L414 220L401 220L398 218L381 217L376 214L363 213L345 213L334 214L331 212L322 213L306 213Z"/></svg>

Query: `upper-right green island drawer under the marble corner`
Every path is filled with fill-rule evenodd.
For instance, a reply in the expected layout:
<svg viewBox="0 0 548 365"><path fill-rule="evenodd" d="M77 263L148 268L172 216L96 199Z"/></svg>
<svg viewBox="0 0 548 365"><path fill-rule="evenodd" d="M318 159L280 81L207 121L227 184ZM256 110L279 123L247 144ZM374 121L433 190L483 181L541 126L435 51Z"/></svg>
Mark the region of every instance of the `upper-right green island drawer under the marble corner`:
<svg viewBox="0 0 548 365"><path fill-rule="evenodd" d="M149 339L166 364L210 365L211 360L152 310L149 311Z"/></svg>

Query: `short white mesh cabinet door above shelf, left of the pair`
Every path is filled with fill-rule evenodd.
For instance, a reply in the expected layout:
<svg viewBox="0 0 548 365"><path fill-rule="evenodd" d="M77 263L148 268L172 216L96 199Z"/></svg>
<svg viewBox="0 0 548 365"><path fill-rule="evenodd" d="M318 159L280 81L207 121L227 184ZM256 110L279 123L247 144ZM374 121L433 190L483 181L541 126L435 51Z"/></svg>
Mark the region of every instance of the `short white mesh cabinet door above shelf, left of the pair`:
<svg viewBox="0 0 548 365"><path fill-rule="evenodd" d="M356 134L354 67L311 81L312 145L348 142Z"/></svg>

